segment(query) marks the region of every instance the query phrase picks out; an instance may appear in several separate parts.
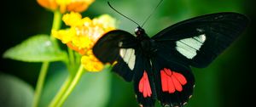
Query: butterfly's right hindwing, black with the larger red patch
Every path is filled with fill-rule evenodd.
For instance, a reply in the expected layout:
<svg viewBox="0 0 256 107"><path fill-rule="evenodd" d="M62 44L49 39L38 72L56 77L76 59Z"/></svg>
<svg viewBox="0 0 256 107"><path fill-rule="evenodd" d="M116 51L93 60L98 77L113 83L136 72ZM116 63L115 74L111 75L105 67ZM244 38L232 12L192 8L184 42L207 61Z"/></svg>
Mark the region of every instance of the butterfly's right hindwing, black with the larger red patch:
<svg viewBox="0 0 256 107"><path fill-rule="evenodd" d="M172 58L172 59L166 59ZM191 97L195 78L189 65L183 64L174 54L158 50L151 59L157 98L162 106L183 106Z"/></svg>

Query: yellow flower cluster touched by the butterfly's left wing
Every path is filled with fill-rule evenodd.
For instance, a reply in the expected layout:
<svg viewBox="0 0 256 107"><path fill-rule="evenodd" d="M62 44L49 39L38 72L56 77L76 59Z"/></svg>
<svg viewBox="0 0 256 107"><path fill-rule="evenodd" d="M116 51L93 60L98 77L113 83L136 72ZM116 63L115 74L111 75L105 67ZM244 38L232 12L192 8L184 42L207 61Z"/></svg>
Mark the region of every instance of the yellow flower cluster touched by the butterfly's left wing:
<svg viewBox="0 0 256 107"><path fill-rule="evenodd" d="M70 25L70 28L52 31L53 37L60 39L69 48L82 54L81 64L86 70L102 70L102 62L96 59L91 48L104 33L115 29L115 20L108 14L90 20L88 17L82 18L80 14L73 12L65 14L62 20L66 25Z"/></svg>

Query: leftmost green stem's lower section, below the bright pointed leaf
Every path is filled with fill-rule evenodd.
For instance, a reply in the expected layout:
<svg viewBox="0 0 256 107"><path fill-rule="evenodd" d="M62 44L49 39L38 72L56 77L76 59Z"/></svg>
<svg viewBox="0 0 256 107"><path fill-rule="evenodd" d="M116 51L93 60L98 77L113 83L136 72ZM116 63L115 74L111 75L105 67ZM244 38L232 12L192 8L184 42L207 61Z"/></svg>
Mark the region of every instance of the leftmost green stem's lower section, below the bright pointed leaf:
<svg viewBox="0 0 256 107"><path fill-rule="evenodd" d="M45 79L45 76L47 74L48 67L49 67L49 62L44 62L42 67L41 67L39 77L38 77L37 86L36 86L36 90L35 90L35 93L34 93L34 99L33 99L32 107L37 107L38 106L39 99L41 97L42 89L43 89L43 86L44 86L44 79Z"/></svg>

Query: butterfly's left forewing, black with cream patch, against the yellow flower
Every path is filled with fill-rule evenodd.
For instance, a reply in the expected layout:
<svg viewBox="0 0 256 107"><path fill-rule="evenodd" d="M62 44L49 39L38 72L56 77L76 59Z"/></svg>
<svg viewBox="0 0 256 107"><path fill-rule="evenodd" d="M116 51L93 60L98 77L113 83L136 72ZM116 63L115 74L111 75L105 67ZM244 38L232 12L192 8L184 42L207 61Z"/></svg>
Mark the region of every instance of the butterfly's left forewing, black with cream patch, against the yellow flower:
<svg viewBox="0 0 256 107"><path fill-rule="evenodd" d="M109 31L93 47L96 58L104 64L113 64L113 71L131 82L134 75L136 37L126 31Z"/></svg>

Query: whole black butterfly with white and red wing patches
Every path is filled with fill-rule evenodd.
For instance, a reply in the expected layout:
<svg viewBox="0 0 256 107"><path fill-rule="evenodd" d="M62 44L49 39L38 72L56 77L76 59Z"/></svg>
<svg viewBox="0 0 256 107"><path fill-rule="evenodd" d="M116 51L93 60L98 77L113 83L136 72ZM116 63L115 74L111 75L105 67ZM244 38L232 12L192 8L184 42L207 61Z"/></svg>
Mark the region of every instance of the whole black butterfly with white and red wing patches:
<svg viewBox="0 0 256 107"><path fill-rule="evenodd" d="M93 48L102 63L125 81L133 81L137 102L154 106L183 106L193 93L195 78L190 65L206 67L247 25L237 13L207 14L184 20L149 38L138 26L136 37L127 31L104 34Z"/></svg>

